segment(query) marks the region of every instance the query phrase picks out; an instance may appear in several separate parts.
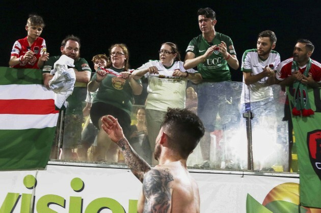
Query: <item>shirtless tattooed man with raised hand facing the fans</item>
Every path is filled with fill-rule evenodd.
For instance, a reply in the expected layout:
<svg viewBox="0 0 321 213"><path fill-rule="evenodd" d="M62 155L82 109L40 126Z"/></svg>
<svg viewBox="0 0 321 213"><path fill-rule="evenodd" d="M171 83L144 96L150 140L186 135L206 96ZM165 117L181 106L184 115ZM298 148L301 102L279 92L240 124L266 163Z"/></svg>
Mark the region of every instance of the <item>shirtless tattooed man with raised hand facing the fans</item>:
<svg viewBox="0 0 321 213"><path fill-rule="evenodd" d="M186 166L205 131L196 114L187 109L168 109L156 138L154 157L159 164L154 168L132 149L117 119L104 116L102 128L120 147L128 167L143 183L138 212L200 212L198 186Z"/></svg>

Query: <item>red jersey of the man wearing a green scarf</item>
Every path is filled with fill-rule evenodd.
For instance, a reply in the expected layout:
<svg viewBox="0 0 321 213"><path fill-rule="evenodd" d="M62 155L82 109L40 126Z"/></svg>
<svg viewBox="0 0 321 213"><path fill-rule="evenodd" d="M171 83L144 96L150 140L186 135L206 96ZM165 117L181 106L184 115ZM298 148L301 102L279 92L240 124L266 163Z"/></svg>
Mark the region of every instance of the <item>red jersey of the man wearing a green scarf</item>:
<svg viewBox="0 0 321 213"><path fill-rule="evenodd" d="M276 78L280 81L283 81L288 76L291 76L295 71L292 69L293 57L283 60L277 69ZM299 67L299 71L303 74L307 65ZM321 64L312 59L311 68L309 70L314 81L321 83Z"/></svg>

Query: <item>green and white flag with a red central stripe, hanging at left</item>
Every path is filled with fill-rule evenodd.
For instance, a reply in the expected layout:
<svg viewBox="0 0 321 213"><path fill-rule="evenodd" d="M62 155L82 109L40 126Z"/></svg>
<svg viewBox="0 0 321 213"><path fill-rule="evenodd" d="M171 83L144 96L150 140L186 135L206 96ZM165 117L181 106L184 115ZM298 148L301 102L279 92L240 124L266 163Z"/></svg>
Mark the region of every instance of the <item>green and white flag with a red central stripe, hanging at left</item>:
<svg viewBox="0 0 321 213"><path fill-rule="evenodd" d="M0 67L0 170L45 167L58 116L41 70Z"/></svg>

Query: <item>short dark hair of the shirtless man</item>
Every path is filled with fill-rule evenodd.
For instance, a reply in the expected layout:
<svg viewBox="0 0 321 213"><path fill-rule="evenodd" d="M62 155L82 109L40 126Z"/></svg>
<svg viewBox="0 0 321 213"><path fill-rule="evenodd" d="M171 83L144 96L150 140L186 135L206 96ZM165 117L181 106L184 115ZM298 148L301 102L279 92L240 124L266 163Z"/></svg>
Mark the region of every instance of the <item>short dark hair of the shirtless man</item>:
<svg viewBox="0 0 321 213"><path fill-rule="evenodd" d="M162 127L169 146L183 158L188 158L205 132L200 118L188 109L168 108Z"/></svg>

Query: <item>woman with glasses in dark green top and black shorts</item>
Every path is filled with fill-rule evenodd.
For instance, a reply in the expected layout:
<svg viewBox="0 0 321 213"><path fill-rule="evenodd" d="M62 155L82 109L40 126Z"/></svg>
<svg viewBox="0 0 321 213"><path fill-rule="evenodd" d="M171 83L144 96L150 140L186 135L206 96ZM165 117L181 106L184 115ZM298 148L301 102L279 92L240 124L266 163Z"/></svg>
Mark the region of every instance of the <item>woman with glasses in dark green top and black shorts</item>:
<svg viewBox="0 0 321 213"><path fill-rule="evenodd" d="M88 90L95 92L99 88L90 110L93 124L99 129L98 153L94 158L98 161L117 162L118 146L101 129L101 117L107 114L115 116L125 136L129 138L133 95L140 95L143 87L140 79L134 79L130 75L132 70L129 70L126 45L114 44L110 47L109 53L110 63L104 68L98 68L88 83Z"/></svg>

